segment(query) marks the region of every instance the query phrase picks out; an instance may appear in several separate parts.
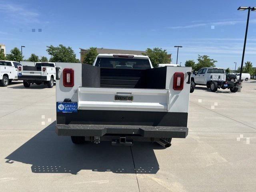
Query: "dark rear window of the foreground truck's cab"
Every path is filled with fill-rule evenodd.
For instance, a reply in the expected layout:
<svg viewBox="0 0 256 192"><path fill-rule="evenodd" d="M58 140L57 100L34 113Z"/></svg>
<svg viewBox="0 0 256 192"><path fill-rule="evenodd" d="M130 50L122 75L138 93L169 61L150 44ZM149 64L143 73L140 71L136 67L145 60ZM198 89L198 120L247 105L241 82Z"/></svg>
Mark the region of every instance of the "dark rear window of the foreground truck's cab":
<svg viewBox="0 0 256 192"><path fill-rule="evenodd" d="M148 59L98 57L95 66L119 69L150 69Z"/></svg>

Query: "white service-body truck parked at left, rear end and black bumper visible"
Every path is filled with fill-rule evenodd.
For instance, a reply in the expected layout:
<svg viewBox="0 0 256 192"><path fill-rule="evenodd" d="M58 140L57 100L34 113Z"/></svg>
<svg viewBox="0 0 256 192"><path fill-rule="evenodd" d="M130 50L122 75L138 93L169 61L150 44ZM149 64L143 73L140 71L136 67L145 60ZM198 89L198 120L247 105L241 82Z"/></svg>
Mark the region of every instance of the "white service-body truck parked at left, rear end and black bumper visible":
<svg viewBox="0 0 256 192"><path fill-rule="evenodd" d="M19 66L18 80L23 80L24 87L30 87L30 84L47 84L52 88L56 80L55 63L36 62L35 66Z"/></svg>

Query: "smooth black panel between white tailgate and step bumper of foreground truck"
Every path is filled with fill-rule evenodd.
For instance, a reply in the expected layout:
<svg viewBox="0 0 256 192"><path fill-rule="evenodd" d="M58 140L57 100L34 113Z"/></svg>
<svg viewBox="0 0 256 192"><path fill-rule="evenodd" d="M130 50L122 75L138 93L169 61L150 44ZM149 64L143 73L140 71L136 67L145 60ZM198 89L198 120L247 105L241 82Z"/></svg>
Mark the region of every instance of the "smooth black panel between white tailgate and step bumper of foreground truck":
<svg viewBox="0 0 256 192"><path fill-rule="evenodd" d="M115 110L78 110L77 113L57 112L56 121L57 124L186 127L188 122L188 113Z"/></svg>

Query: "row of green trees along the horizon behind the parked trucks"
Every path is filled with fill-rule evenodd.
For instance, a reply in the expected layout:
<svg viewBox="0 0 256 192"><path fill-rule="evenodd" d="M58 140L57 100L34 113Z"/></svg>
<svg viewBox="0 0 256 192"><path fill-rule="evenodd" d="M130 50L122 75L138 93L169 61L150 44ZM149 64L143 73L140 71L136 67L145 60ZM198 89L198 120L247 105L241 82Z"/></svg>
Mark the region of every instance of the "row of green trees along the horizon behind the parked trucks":
<svg viewBox="0 0 256 192"><path fill-rule="evenodd" d="M70 46L66 47L62 44L59 46L46 46L46 52L51 55L51 58L48 60L47 57L42 56L39 58L38 55L32 53L26 61L32 62L71 62L71 63L78 63L80 62L79 59L76 58L76 54L74 50ZM150 58L152 66L158 67L160 63L170 63L172 60L168 57L167 50L162 48L153 48L153 49L146 49L145 53L142 53ZM91 47L88 49L86 54L84 55L83 63L92 65L96 56L98 55L97 48ZM22 56L21 51L15 47L10 51L10 54L4 56L3 50L1 50L0 46L0 60L12 60L20 62L24 59ZM186 60L185 66L192 67L193 70L198 71L200 68L204 67L215 67L215 63L217 61L210 58L208 55L198 55L197 63L194 60ZM231 72L230 68L226 69L226 72ZM240 72L240 67L236 70L237 73ZM254 70L252 67L252 62L247 61L243 67L243 73L250 73L250 75L256 74L256 69Z"/></svg>

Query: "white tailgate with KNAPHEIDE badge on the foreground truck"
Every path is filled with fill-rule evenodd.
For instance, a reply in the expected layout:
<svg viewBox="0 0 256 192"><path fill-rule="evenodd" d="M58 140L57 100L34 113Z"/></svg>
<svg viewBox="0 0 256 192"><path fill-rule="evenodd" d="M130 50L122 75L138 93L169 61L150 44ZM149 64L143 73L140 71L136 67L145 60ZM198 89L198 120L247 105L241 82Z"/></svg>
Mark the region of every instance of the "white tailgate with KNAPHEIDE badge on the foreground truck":
<svg viewBox="0 0 256 192"><path fill-rule="evenodd" d="M77 92L78 110L168 111L168 89L78 87Z"/></svg>

